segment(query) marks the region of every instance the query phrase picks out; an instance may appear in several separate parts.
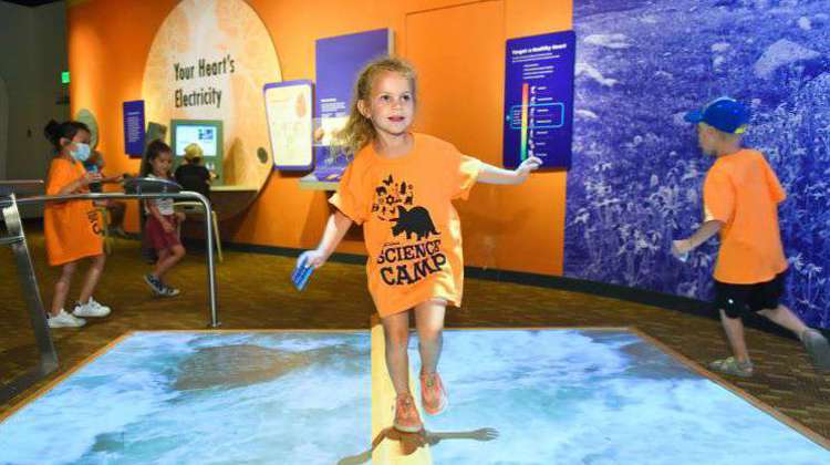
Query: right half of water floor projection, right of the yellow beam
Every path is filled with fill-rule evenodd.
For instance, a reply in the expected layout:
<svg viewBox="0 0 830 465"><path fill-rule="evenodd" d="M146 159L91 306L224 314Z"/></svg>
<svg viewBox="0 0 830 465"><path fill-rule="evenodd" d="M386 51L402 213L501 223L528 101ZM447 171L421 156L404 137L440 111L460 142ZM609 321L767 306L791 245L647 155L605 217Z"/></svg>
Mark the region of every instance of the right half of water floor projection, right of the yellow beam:
<svg viewBox="0 0 830 465"><path fill-rule="evenodd" d="M823 464L830 451L634 332L445 333L436 464ZM418 360L412 345L409 360Z"/></svg>

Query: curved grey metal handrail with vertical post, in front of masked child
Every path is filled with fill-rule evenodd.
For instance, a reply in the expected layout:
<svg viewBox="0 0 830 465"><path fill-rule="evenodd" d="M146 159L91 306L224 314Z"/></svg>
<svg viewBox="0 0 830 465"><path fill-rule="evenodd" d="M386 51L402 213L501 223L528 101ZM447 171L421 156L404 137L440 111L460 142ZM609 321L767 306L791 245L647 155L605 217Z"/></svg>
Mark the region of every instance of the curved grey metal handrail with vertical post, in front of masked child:
<svg viewBox="0 0 830 465"><path fill-rule="evenodd" d="M18 198L19 205L25 204L40 204L40 203L52 203L52 202L68 202L68 200L110 200L110 199L154 199L154 198L186 198L196 199L204 207L206 211L210 211L210 200L204 195L191 192L183 190L178 193L136 193L136 194L123 194L123 193L90 193L90 194L68 194L68 195L39 195L31 197ZM216 306L216 268L214 261L214 225L210 221L210 216L205 215L205 231L207 239L207 267L208 267L208 304L210 307L210 322L208 327L218 328L221 323L219 322L219 314Z"/></svg>

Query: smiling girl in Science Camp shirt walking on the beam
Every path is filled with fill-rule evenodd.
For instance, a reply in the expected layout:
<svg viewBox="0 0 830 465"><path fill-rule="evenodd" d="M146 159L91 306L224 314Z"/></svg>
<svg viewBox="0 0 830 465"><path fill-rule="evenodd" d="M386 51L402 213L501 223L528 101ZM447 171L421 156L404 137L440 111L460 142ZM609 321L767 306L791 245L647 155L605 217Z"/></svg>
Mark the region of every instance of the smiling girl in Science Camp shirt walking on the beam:
<svg viewBox="0 0 830 465"><path fill-rule="evenodd" d="M397 394L394 426L404 432L423 428L409 392L409 310L418 332L422 405L432 415L447 405L437 372L444 313L447 304L460 306L464 283L460 224L452 200L467 198L476 182L521 184L541 163L530 157L516 170L500 169L413 133L415 89L415 71L402 60L381 59L363 70L339 135L354 159L331 198L336 211L320 245L299 259L300 266L321 267L352 223L363 224L369 290Z"/></svg>

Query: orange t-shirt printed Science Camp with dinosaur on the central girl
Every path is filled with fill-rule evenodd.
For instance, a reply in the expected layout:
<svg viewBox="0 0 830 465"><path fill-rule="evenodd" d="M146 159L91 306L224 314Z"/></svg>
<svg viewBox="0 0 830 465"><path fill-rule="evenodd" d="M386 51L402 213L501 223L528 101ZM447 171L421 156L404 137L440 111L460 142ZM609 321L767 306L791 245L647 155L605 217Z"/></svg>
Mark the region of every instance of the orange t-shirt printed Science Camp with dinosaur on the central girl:
<svg viewBox="0 0 830 465"><path fill-rule="evenodd" d="M381 317L433 298L461 303L461 227L452 200L467 198L481 162L436 137L413 137L397 158L372 144L361 149L330 200L363 225L369 291Z"/></svg>

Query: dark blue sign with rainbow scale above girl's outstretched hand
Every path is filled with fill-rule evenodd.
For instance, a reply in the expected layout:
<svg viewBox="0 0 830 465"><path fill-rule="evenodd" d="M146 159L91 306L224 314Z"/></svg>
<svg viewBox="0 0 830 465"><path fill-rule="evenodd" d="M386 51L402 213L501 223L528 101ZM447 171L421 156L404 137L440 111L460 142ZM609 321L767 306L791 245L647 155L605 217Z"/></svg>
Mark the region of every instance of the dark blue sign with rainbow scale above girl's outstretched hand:
<svg viewBox="0 0 830 465"><path fill-rule="evenodd" d="M537 156L543 168L570 168L575 34L510 39L506 49L505 167Z"/></svg>

